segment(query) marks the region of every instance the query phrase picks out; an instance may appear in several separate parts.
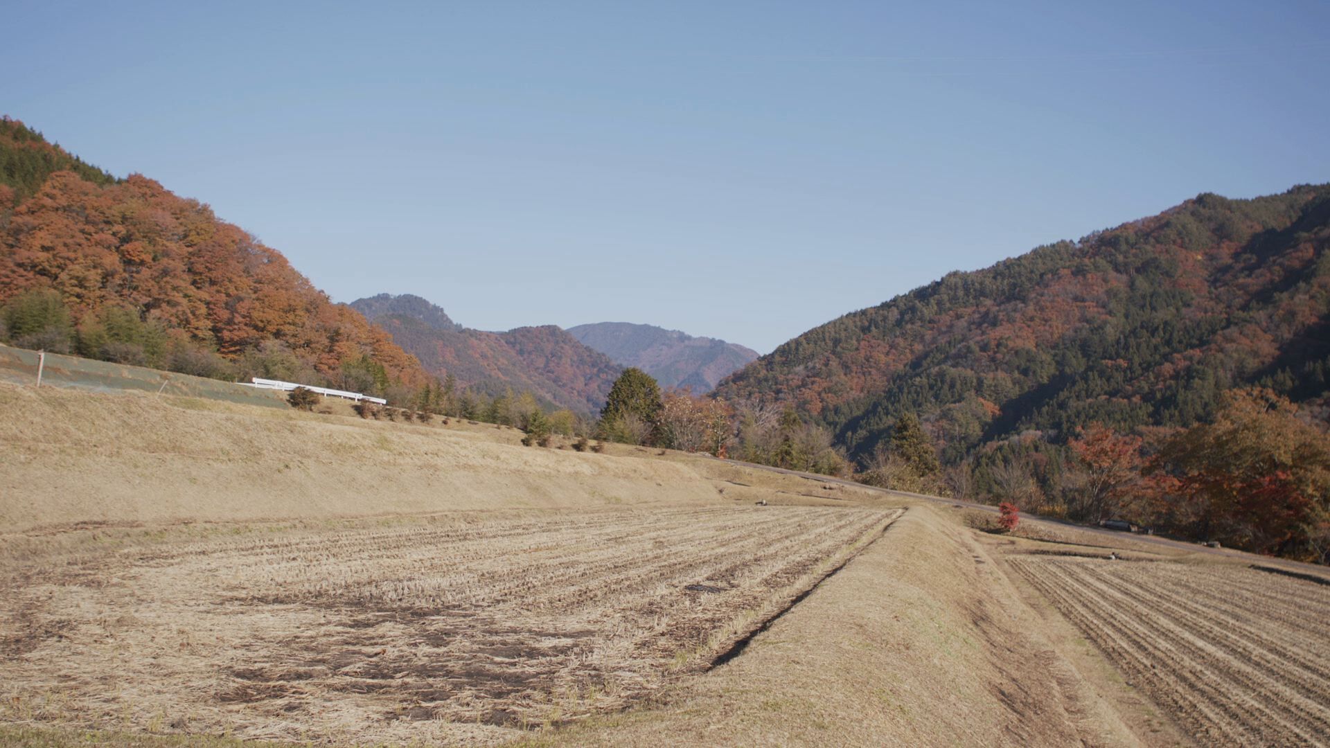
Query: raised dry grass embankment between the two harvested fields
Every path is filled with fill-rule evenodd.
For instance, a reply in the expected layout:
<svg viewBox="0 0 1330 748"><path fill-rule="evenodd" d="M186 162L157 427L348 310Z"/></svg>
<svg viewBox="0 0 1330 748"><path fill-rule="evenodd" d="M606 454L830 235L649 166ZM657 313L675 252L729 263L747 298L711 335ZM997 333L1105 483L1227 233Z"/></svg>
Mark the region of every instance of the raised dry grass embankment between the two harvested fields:
<svg viewBox="0 0 1330 748"><path fill-rule="evenodd" d="M523 745L1138 745L999 578L966 530L911 508L742 656Z"/></svg>

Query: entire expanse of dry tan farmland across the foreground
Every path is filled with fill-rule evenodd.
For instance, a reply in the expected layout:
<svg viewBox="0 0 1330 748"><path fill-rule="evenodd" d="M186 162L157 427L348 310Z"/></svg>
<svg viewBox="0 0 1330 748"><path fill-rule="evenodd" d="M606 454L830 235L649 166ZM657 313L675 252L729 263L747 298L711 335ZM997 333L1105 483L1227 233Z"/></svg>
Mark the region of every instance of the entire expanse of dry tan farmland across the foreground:
<svg viewBox="0 0 1330 748"><path fill-rule="evenodd" d="M1226 550L456 421L0 410L7 748L1330 735L1330 586Z"/></svg>

